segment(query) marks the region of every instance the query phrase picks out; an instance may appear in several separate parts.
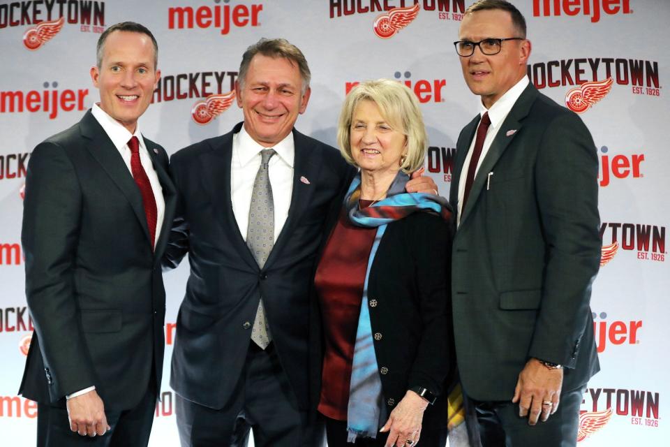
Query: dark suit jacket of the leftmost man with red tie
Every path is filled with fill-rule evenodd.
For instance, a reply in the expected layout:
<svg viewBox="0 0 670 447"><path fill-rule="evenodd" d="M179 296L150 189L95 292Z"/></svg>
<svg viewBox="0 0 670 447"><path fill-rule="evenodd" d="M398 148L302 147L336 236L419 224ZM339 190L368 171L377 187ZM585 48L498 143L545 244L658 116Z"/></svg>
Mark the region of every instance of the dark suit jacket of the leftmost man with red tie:
<svg viewBox="0 0 670 447"><path fill-rule="evenodd" d="M19 390L28 399L96 386L105 409L121 410L140 401L152 372L161 383L160 259L175 196L168 155L144 141L165 197L155 254L140 190L90 110L31 154L22 244L35 334Z"/></svg>

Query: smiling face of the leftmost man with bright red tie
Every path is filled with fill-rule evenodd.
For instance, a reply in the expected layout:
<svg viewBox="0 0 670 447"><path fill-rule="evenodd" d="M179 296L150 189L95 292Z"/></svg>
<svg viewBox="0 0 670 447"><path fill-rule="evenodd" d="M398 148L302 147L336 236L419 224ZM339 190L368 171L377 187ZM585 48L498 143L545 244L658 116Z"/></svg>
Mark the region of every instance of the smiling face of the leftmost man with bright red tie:
<svg viewBox="0 0 670 447"><path fill-rule="evenodd" d="M91 68L93 84L100 90L100 108L131 133L137 118L149 107L160 78L151 38L131 31L107 36L101 66Z"/></svg>

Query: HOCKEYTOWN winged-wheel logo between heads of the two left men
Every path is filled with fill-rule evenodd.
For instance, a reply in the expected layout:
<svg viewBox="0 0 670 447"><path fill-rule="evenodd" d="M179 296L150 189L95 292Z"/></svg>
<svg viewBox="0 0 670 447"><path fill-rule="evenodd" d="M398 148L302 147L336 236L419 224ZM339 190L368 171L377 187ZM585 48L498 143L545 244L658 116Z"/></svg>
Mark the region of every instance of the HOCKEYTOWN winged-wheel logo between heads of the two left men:
<svg viewBox="0 0 670 447"><path fill-rule="evenodd" d="M191 118L197 124L209 124L234 103L236 79L237 71L165 75L156 85L151 102L198 98L191 108Z"/></svg>

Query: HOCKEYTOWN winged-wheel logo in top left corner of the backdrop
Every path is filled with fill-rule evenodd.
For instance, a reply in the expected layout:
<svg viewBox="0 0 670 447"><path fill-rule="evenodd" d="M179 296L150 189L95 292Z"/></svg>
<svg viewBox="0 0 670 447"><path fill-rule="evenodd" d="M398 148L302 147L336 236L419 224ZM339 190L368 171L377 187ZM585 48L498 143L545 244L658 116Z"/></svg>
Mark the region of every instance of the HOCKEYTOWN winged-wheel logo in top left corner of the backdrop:
<svg viewBox="0 0 670 447"><path fill-rule="evenodd" d="M42 47L64 24L78 24L80 31L105 31L105 3L91 0L11 1L0 5L0 29L34 25L23 35L28 50Z"/></svg>

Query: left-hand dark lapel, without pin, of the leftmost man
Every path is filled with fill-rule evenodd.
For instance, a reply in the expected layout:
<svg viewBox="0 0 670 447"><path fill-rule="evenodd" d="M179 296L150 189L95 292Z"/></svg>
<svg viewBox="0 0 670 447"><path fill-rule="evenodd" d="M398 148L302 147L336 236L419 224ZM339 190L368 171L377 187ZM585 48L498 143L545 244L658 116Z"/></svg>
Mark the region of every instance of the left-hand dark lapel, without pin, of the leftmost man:
<svg viewBox="0 0 670 447"><path fill-rule="evenodd" d="M128 166L121 158L121 154L112 144L112 140L107 136L103 127L98 123L98 120L93 116L89 110L84 118L82 118L80 129L82 135L87 138L86 147L103 170L110 176L112 181L117 184L121 192L131 203L131 207L135 212L137 220L140 221L140 226L144 230L144 235L147 237L147 242L151 242L149 236L149 227L147 226L147 217L144 214L144 205L142 205L142 194L137 184L133 179L133 175L128 170Z"/></svg>

